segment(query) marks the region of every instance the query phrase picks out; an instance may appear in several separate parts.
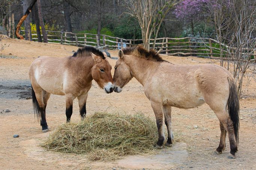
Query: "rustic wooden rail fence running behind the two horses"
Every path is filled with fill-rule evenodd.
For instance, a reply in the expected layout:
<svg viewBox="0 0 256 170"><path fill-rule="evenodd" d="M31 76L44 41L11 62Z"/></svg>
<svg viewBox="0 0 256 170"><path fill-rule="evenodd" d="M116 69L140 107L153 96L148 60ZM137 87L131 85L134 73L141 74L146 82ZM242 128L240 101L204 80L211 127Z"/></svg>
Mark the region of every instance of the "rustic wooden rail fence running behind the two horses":
<svg viewBox="0 0 256 170"><path fill-rule="evenodd" d="M100 35L100 42L98 42L97 34L89 33L71 33L65 31L49 31L47 30L48 43L60 43L65 45L75 45L83 47L90 46L108 46L108 49L120 49L142 44L142 39L123 39L119 37L112 37L107 35ZM24 34L24 30L21 30ZM37 41L36 31L32 31L32 39ZM151 39L150 47L153 48L154 39ZM228 54L227 47L221 44L224 57ZM220 57L220 45L217 40L211 38L158 38L155 44L155 49L161 49L161 54L175 55L175 56L197 56L197 57ZM229 49L230 51L230 49ZM232 51L232 49L231 49ZM254 59L256 58L256 51L254 51Z"/></svg>

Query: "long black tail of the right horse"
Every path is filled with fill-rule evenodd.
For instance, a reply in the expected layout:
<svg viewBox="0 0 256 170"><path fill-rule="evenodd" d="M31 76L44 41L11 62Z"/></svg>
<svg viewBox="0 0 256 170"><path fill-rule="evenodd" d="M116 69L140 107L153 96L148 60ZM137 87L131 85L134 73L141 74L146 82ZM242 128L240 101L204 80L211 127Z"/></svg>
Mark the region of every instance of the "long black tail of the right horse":
<svg viewBox="0 0 256 170"><path fill-rule="evenodd" d="M229 111L230 119L233 121L236 143L239 142L239 99L237 95L237 86L233 79L228 78L229 81L229 99L227 100L227 109Z"/></svg>

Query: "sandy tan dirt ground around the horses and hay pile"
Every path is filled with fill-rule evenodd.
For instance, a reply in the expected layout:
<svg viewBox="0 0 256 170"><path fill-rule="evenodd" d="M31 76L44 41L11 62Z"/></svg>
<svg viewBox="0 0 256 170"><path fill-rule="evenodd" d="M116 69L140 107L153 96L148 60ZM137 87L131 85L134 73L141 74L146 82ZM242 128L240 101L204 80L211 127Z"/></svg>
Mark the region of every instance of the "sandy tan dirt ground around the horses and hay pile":
<svg viewBox="0 0 256 170"><path fill-rule="evenodd" d="M49 133L42 133L39 122L34 118L30 99L29 66L38 56L65 57L72 55L72 51L76 51L77 47L13 39L4 39L0 43L4 47L0 51L0 169L143 169L143 166L136 166L138 163L136 161L140 160L136 156L130 160L124 158L123 163L122 161L88 162L81 155L56 153L41 148L40 143ZM117 57L117 51L110 51L110 54L112 57ZM167 55L162 57L174 64L203 64L214 61L196 57ZM116 60L108 59L108 61L113 68ZM143 86L136 79L132 79L123 88L123 92L111 94L106 94L93 81L86 105L87 115L96 111L125 114L142 112L154 118L154 112L144 94ZM173 107L172 128L174 133L182 137L182 143L174 145L173 148L174 150L183 148L180 151L184 152L185 156L183 155L182 158L175 156L173 159L178 161L165 162L164 166L161 161L151 163L152 165L145 169L256 169L256 82L254 80L250 82L248 91L243 92L240 107L239 152L236 154L236 159L227 158L230 151L228 138L226 151L221 155L214 154L220 140L220 128L217 117L207 104L187 110ZM11 112L5 112L6 109ZM65 98L51 95L46 114L51 130L64 123ZM78 101L75 99L71 121L79 120ZM14 134L19 134L20 137L14 138ZM128 160L124 161L125 159ZM166 159L164 155L163 159ZM129 161L133 166L125 165Z"/></svg>

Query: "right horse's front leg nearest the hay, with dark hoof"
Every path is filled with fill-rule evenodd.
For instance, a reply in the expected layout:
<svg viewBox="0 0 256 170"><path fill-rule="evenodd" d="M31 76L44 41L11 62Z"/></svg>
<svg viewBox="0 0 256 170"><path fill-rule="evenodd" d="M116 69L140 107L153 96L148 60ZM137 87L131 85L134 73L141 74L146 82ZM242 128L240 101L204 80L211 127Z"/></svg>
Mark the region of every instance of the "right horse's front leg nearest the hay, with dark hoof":
<svg viewBox="0 0 256 170"><path fill-rule="evenodd" d="M164 130L163 130L163 106L160 103L151 101L151 106L155 113L158 129L157 148L161 149L164 146Z"/></svg>

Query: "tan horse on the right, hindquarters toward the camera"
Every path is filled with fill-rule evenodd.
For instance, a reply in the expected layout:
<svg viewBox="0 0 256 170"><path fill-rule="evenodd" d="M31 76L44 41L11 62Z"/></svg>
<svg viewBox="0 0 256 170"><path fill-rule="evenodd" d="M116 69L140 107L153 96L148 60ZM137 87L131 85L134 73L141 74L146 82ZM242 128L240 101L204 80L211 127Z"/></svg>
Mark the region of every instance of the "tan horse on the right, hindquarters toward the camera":
<svg viewBox="0 0 256 170"><path fill-rule="evenodd" d="M188 109L206 102L220 120L220 144L215 152L221 154L225 149L227 133L229 158L235 158L239 100L234 79L226 69L214 64L175 65L163 60L154 50L147 51L142 46L120 50L114 69L115 92L121 92L133 77L144 86L157 121L158 148L162 148L165 141L163 115L168 131L166 145L173 143L172 106Z"/></svg>

